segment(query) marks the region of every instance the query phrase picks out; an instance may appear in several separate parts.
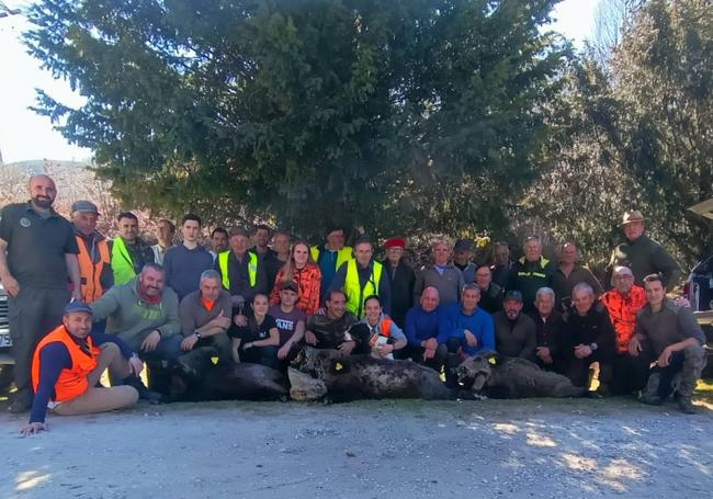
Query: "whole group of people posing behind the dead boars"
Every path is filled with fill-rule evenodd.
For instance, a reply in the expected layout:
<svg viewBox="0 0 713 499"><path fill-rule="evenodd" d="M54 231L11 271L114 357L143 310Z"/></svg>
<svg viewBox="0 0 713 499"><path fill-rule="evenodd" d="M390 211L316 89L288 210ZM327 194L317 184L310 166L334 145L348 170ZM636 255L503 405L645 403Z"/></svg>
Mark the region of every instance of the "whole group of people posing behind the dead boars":
<svg viewBox="0 0 713 499"><path fill-rule="evenodd" d="M624 215L626 239L612 253L604 292L571 241L556 263L536 236L518 260L500 242L493 261L475 263L473 241L440 240L431 262L414 269L404 239L386 240L377 261L373 241L346 246L340 227L316 246L264 225L215 228L206 249L201 218L188 214L180 242L161 220L151 246L126 212L109 240L93 203L76 202L71 222L53 209L49 177L34 175L30 194L0 212L15 360L10 410L32 409L25 433L44 429L47 410L159 401L140 379L144 362L195 374L192 356L211 349L218 363L286 371L305 344L410 359L442 371L451 386L455 367L480 351L528 359L576 386L589 386L597 364L601 395L641 390L644 401L663 404L675 393L693 411L705 338L691 310L666 297L680 269L644 234L640 212ZM98 384L105 370L111 387Z"/></svg>

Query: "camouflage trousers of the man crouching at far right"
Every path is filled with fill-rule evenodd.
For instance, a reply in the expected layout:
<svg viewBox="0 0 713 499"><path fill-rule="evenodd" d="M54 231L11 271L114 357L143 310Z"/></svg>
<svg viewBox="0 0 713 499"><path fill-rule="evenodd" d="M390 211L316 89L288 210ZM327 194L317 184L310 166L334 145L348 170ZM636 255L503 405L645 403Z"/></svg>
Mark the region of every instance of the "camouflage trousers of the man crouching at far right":
<svg viewBox="0 0 713 499"><path fill-rule="evenodd" d="M674 393L690 397L704 367L703 347L687 347L684 350L674 352L667 367L656 366L650 371L642 398L644 401L655 400L657 397L666 399Z"/></svg>

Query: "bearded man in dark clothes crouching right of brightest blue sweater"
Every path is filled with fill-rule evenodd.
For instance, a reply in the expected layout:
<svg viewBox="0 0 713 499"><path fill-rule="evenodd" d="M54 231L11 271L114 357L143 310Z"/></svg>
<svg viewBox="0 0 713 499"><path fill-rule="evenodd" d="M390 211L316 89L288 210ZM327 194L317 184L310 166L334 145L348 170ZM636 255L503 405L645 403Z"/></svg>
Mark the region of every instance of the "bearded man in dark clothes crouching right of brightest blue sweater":
<svg viewBox="0 0 713 499"><path fill-rule="evenodd" d="M522 293L514 290L507 292L502 307L493 316L495 350L500 355L534 360L535 325L522 314Z"/></svg>

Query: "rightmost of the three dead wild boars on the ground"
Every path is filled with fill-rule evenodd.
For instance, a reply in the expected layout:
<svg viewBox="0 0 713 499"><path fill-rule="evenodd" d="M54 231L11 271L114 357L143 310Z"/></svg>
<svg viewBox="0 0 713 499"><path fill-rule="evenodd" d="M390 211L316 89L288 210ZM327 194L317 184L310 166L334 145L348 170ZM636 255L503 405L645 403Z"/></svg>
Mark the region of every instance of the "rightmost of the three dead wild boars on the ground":
<svg viewBox="0 0 713 499"><path fill-rule="evenodd" d="M480 352L463 361L456 368L463 389L476 397L531 398L584 397L587 388L571 384L568 377L540 368L525 359L502 358L495 352Z"/></svg>

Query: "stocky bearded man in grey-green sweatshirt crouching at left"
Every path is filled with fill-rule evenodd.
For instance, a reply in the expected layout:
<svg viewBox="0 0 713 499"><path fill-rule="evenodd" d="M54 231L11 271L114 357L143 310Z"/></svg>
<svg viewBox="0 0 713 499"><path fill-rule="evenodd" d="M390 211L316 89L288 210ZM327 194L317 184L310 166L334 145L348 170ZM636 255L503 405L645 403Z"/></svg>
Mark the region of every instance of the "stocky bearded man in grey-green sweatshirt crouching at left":
<svg viewBox="0 0 713 499"><path fill-rule="evenodd" d="M173 361L183 354L178 296L165 285L165 279L161 265L147 263L138 276L112 287L91 305L94 322L106 319L106 332L118 336L143 360ZM160 400L138 377L127 383L140 398Z"/></svg>

